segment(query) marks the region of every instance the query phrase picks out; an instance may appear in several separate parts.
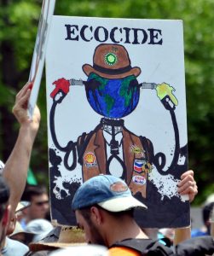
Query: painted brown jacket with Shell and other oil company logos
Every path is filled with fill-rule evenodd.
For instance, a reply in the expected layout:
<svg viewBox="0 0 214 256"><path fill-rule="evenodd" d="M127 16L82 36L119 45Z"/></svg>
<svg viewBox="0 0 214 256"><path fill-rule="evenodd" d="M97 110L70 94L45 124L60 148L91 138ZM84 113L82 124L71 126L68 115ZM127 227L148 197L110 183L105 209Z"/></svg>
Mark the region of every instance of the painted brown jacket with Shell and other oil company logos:
<svg viewBox="0 0 214 256"><path fill-rule="evenodd" d="M79 155L82 163L83 181L88 180L90 177L99 174L107 173L107 152L106 142L103 137L102 129L98 129L92 133L78 137L78 148L82 148L82 154ZM140 137L126 130L123 133L123 154L124 165L126 167L126 180L133 195L140 192L143 197L146 197L147 188L147 172L136 172L135 160L147 159L147 165L152 168L152 162L147 148L144 148ZM147 140L147 147L153 148L152 143ZM84 148L84 149L83 149ZM79 151L79 150L78 150ZM145 168L144 168L145 170Z"/></svg>

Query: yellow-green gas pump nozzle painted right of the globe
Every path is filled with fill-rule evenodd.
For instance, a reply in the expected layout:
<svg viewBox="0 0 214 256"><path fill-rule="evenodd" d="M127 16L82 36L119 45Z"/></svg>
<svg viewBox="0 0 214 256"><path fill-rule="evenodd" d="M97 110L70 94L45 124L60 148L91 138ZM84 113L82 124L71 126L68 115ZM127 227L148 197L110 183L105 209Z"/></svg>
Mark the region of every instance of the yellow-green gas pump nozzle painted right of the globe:
<svg viewBox="0 0 214 256"><path fill-rule="evenodd" d="M159 97L160 101L162 101L165 97L170 98L171 102L174 104L174 106L177 106L178 101L176 99L176 96L172 93L172 91L175 91L175 89L170 84L158 84L156 87L157 96Z"/></svg>

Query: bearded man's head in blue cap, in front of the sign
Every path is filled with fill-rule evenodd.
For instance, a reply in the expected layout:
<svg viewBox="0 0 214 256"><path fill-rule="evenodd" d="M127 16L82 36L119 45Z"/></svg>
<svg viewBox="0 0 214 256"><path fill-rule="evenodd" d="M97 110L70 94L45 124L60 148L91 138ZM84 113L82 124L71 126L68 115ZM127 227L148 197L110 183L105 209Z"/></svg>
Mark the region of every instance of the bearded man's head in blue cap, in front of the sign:
<svg viewBox="0 0 214 256"><path fill-rule="evenodd" d="M113 224L132 221L135 207L147 208L137 201L118 177L100 175L90 178L76 192L72 201L78 227L86 241L109 246L107 234Z"/></svg>

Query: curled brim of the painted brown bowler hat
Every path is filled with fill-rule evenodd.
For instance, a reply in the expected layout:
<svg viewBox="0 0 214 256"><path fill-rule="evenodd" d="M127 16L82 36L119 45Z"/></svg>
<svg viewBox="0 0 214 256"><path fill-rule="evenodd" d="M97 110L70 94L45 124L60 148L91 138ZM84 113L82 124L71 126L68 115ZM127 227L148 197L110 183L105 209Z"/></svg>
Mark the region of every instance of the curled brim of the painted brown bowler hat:
<svg viewBox="0 0 214 256"><path fill-rule="evenodd" d="M89 76L90 73L96 73L105 79L124 79L125 77L128 77L130 75L134 75L135 77L138 77L140 73L142 73L140 67L132 67L130 71L125 73L115 73L115 74L101 73L100 71L96 70L94 67L90 66L89 64L84 64L83 71L87 76Z"/></svg>

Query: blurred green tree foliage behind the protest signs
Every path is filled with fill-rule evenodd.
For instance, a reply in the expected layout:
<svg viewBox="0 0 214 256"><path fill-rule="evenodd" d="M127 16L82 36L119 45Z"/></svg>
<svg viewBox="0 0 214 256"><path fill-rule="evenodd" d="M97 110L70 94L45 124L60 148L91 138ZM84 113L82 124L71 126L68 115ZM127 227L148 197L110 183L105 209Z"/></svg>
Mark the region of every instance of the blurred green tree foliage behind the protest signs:
<svg viewBox="0 0 214 256"><path fill-rule="evenodd" d="M17 127L11 108L26 83L38 29L42 0L0 0L0 157L13 148ZM188 109L189 167L194 169L200 195L214 191L214 20L213 0L56 0L55 15L176 19L184 23ZM42 124L32 154L32 169L47 177L45 81L38 105ZM47 180L47 178L46 178Z"/></svg>

